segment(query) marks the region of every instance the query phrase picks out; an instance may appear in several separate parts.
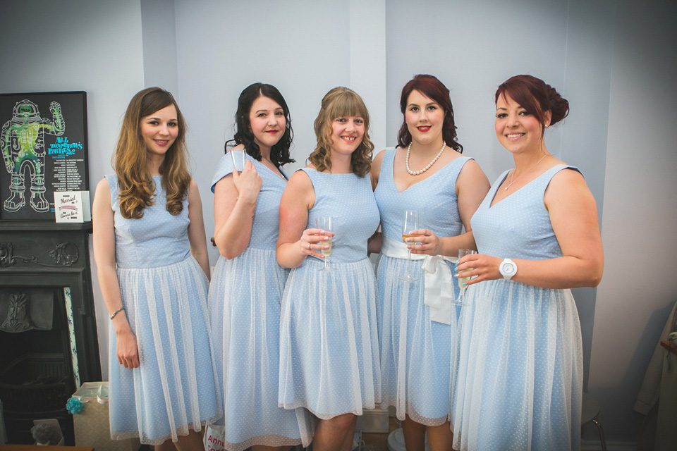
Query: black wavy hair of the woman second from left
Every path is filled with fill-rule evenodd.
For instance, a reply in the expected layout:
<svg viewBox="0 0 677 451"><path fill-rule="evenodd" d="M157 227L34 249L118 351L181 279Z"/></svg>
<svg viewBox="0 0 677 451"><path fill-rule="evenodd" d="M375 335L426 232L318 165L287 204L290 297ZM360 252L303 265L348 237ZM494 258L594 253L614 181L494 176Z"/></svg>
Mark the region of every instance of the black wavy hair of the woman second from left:
<svg viewBox="0 0 677 451"><path fill-rule="evenodd" d="M289 148L291 147L294 132L291 129L291 116L289 115L287 102L284 101L284 97L282 97L282 94L280 94L276 87L267 85L266 83L253 83L252 85L245 87L240 93L240 98L238 99L238 111L235 113L235 136L233 136L232 140L226 141L226 152L228 151L229 142L235 142L236 145L243 144L247 153L250 154L252 158L261 161L261 150L259 149L259 144L256 144L256 141L254 140L254 133L252 133L249 120L252 105L259 97L268 97L269 99L276 101L277 104L282 107L286 122L282 137L270 149L270 161L278 168L283 164L293 163L294 160L289 156Z"/></svg>

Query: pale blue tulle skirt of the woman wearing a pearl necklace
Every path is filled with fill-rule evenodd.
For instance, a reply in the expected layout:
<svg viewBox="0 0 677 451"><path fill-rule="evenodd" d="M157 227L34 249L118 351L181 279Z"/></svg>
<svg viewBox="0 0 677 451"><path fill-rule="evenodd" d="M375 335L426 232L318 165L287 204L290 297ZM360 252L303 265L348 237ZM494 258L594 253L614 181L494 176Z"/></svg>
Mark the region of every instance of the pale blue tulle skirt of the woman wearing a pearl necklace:
<svg viewBox="0 0 677 451"><path fill-rule="evenodd" d="M439 426L449 415L456 311L451 324L430 321L429 307L423 303L425 276L421 264L422 260L414 260L410 267L418 280L404 282L399 276L406 273L405 259L379 258L379 317L382 324L392 325L383 326L380 334L382 407L394 406L399 420L407 414L417 423ZM458 288L453 290L456 293Z"/></svg>

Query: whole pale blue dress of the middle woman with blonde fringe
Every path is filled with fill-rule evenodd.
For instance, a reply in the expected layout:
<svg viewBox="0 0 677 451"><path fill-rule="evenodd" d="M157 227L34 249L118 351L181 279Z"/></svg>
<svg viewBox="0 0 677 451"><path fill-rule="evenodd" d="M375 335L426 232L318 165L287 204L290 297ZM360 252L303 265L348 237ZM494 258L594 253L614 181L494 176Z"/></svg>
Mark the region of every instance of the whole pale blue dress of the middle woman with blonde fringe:
<svg viewBox="0 0 677 451"><path fill-rule="evenodd" d="M361 415L381 400L374 269L367 239L379 226L369 175L304 168L315 189L307 228L334 217L331 271L307 257L282 298L279 404L319 419Z"/></svg>

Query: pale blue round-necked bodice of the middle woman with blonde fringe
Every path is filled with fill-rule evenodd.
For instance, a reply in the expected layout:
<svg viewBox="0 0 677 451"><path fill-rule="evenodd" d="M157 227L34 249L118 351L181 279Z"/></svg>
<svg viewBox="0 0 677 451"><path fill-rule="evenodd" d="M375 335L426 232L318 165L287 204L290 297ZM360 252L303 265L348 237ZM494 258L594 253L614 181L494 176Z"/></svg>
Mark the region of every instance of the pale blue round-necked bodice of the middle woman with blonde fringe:
<svg viewBox="0 0 677 451"><path fill-rule="evenodd" d="M379 209L369 175L331 174L303 168L315 188L315 204L308 211L306 228L315 218L334 218L331 262L347 263L367 257L367 240L379 226Z"/></svg>

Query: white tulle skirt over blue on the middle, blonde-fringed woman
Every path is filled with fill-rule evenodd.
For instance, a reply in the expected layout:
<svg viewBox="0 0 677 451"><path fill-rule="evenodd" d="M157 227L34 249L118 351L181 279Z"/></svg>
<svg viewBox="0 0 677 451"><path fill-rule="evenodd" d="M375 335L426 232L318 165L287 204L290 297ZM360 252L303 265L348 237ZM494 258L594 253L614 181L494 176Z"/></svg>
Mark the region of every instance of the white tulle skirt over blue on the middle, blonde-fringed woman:
<svg viewBox="0 0 677 451"><path fill-rule="evenodd" d="M287 279L279 404L319 419L361 415L381 400L374 270L368 259L322 264L309 257Z"/></svg>

